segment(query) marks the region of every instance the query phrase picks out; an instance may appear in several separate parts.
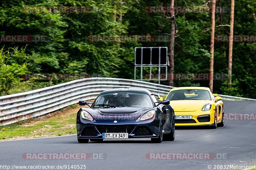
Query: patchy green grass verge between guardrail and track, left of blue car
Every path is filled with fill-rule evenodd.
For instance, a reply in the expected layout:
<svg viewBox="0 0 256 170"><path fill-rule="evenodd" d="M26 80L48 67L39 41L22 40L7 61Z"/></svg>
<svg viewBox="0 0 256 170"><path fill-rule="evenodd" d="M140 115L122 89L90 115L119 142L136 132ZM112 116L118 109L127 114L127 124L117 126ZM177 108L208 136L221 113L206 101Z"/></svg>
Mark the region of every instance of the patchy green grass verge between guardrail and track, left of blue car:
<svg viewBox="0 0 256 170"><path fill-rule="evenodd" d="M40 138L76 133L77 104L39 118L0 126L0 140Z"/></svg>

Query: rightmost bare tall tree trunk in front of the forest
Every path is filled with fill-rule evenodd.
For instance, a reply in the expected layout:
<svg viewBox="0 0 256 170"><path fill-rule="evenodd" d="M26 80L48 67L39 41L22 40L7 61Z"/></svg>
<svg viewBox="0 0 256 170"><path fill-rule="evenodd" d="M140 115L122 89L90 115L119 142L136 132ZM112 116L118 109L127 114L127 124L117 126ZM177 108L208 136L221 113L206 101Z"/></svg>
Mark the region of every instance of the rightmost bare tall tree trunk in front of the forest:
<svg viewBox="0 0 256 170"><path fill-rule="evenodd" d="M230 12L230 32L229 32L229 50L228 50L228 88L231 88L232 84L232 55L233 55L233 36L234 36L234 9L235 0L231 0L231 12Z"/></svg>

